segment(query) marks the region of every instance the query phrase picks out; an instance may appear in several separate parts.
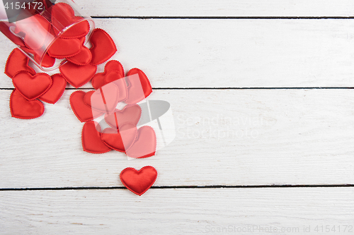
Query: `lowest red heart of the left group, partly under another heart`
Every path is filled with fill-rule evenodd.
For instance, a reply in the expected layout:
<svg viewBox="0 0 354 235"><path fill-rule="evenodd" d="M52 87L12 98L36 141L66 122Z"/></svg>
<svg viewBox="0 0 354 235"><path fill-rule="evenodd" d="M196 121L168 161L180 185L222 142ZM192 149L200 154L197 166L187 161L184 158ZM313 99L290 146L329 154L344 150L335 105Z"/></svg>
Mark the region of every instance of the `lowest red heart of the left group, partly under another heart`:
<svg viewBox="0 0 354 235"><path fill-rule="evenodd" d="M10 97L10 110L11 116L17 119L35 119L44 113L44 105L39 100L25 100L15 89Z"/></svg>

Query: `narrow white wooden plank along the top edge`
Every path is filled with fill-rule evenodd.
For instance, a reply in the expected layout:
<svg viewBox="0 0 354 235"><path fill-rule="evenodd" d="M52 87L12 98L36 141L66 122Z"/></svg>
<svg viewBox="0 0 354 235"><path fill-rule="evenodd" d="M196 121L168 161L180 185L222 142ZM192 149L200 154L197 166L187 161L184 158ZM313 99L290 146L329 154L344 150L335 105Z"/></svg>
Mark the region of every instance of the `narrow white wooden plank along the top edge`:
<svg viewBox="0 0 354 235"><path fill-rule="evenodd" d="M353 16L350 0L76 0L90 16Z"/></svg>

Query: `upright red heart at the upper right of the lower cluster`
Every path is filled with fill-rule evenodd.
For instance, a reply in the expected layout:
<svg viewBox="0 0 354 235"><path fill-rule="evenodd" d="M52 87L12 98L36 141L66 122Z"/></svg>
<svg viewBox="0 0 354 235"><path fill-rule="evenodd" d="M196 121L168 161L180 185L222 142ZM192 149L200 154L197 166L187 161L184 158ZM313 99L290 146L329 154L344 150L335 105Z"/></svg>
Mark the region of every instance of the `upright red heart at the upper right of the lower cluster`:
<svg viewBox="0 0 354 235"><path fill-rule="evenodd" d="M137 104L152 93L152 85L149 78L139 68L132 68L127 73L128 95L127 104Z"/></svg>

